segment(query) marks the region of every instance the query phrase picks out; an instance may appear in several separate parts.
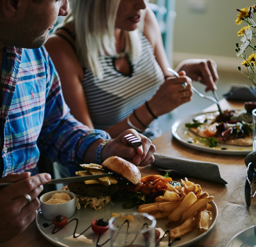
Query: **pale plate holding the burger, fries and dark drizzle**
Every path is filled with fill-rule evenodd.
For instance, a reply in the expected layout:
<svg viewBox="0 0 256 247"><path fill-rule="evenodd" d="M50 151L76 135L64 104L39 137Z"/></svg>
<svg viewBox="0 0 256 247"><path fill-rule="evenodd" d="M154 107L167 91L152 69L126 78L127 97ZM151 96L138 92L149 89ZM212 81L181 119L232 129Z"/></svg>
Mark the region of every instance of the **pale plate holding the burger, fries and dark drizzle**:
<svg viewBox="0 0 256 247"><path fill-rule="evenodd" d="M95 210L92 208L83 208L81 207L80 210L75 211L75 214L68 219L68 222L74 218L78 219L78 226L76 233L80 234L82 233L86 228L88 228L91 225L92 220L94 219L101 219L109 220L112 213L120 213L120 212L137 212L137 208L130 208L126 209L122 207L123 201L108 203L107 205L103 206L101 210ZM205 232L200 232L197 228L193 229L191 232L186 233L185 235L181 236L180 241L176 241L173 246L190 246L199 240L201 240L203 237L205 237L206 234L208 234L213 226L216 223L217 217L218 217L218 209L216 204L211 201L210 204L212 205L212 219L209 221L209 229ZM170 228L166 228L165 224L168 222L167 218L163 219L157 219L156 228L162 228L162 230L165 232L166 230ZM36 225L40 233L53 245L55 246L66 246L66 247L96 247L98 236L97 234L93 233L91 228L89 228L83 235L88 238L92 239L93 244L90 243L84 243L84 242L77 242L74 241L73 238L73 232L76 226L76 221L71 222L70 224L63 227L59 232L56 234L52 234L52 230L54 229L54 225L50 225L47 228L43 227L44 223L50 224L51 221L46 220L41 211L38 211L38 214L36 216ZM176 225L177 226L177 225ZM174 227L176 227L174 226ZM72 240L65 239L66 237L70 237ZM104 243L107 239L109 239L109 230L101 235L99 244ZM110 242L107 242L103 247L109 247ZM159 247L167 247L168 246L168 237L164 237L161 244L158 245Z"/></svg>

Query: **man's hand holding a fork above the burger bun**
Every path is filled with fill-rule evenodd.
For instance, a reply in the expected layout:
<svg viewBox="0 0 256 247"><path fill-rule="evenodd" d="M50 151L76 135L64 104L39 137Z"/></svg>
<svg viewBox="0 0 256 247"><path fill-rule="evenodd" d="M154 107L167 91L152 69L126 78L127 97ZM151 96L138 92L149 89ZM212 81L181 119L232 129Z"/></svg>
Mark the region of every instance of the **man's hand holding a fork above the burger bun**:
<svg viewBox="0 0 256 247"><path fill-rule="evenodd" d="M127 141L124 136L133 134L139 140L142 141L142 148L137 150L133 148L133 144ZM137 151L137 152L136 152ZM151 143L151 140L142 134L139 134L134 129L124 131L121 135L115 138L112 142L108 143L101 152L102 161L111 156L118 156L125 160L132 162L136 166L147 166L154 162L155 158L153 153L156 151L155 146Z"/></svg>

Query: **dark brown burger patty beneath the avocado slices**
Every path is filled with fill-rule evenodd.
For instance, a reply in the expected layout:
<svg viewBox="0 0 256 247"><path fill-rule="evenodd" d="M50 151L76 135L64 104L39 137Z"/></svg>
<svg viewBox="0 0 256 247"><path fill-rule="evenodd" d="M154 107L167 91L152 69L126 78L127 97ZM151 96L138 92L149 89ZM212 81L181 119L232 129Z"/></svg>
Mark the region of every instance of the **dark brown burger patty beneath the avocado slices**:
<svg viewBox="0 0 256 247"><path fill-rule="evenodd" d="M68 188L70 191L80 194L83 196L90 196L90 197L98 197L98 196L105 196L105 195L112 195L115 193L119 185L111 184L111 185L102 185L102 184L89 184L86 185L84 182L79 183L69 183Z"/></svg>

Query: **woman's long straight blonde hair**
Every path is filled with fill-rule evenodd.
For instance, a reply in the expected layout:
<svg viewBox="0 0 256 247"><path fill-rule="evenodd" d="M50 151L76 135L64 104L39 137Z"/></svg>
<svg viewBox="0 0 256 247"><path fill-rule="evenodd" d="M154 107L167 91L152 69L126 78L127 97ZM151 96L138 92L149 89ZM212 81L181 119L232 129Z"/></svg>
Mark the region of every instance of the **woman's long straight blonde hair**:
<svg viewBox="0 0 256 247"><path fill-rule="evenodd" d="M99 55L117 56L114 30L120 1L70 0L70 13L66 22L73 22L75 26L78 60L98 78L103 77ZM140 56L139 36L143 26L144 16L139 28L130 32L123 30L124 52L132 63Z"/></svg>

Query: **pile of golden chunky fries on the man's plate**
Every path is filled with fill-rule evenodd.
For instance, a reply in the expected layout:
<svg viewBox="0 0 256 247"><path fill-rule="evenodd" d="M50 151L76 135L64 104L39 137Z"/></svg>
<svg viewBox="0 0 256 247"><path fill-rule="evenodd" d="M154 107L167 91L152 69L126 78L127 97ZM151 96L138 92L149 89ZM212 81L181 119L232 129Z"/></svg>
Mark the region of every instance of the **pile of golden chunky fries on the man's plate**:
<svg viewBox="0 0 256 247"><path fill-rule="evenodd" d="M209 204L214 196L203 192L200 185L195 185L185 178L181 180L183 186L168 184L163 196L155 199L155 203L139 206L138 212L150 213L156 219L168 217L165 225L171 227L173 222L180 226L170 230L170 237L177 238L191 231L196 226L200 231L206 231L211 219L212 206Z"/></svg>

